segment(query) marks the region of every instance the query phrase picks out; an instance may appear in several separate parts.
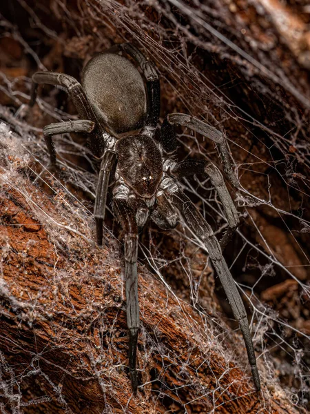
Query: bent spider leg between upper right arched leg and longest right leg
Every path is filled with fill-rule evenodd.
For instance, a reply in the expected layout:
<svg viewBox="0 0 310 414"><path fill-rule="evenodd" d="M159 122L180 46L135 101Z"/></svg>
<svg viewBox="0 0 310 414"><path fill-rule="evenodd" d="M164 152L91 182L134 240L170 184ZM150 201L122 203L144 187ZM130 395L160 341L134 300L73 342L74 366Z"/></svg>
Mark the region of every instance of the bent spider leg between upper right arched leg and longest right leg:
<svg viewBox="0 0 310 414"><path fill-rule="evenodd" d="M231 199L220 170L211 162L204 161L203 159L186 159L174 166L170 172L176 178L195 174L203 174L210 177L211 184L216 189L218 197L220 197L220 201L222 202L228 223L227 232L223 236L223 239L220 240L220 246L224 250L239 225L239 218L234 201Z"/></svg>

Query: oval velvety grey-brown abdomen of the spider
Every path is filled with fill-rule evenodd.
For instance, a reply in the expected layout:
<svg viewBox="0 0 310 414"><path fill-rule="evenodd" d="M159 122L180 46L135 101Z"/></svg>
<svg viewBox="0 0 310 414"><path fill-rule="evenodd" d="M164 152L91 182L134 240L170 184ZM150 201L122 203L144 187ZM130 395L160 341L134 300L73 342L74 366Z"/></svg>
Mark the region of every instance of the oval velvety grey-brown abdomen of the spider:
<svg viewBox="0 0 310 414"><path fill-rule="evenodd" d="M110 132L119 134L144 126L145 86L129 59L109 52L93 57L83 69L82 84L96 117Z"/></svg>

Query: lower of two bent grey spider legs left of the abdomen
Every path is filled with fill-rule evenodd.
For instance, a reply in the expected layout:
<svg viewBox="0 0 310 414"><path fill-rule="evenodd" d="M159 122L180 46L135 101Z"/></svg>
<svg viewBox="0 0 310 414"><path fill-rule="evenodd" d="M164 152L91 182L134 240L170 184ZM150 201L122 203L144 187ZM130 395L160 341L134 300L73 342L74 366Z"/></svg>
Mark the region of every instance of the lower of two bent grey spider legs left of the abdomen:
<svg viewBox="0 0 310 414"><path fill-rule="evenodd" d="M65 134L66 132L84 132L90 134L94 129L94 122L87 121L86 119L78 119L76 121L57 122L56 124L50 124L43 128L43 136L45 144L48 147L48 153L50 154L50 166L56 165L56 151L54 143L52 141L53 135Z"/></svg>

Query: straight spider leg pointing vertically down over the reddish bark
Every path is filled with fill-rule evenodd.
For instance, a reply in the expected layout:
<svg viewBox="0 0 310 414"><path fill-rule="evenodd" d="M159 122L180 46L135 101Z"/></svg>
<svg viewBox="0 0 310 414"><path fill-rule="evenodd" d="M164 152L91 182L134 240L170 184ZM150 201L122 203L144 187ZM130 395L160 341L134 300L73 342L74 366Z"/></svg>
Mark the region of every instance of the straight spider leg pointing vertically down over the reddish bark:
<svg viewBox="0 0 310 414"><path fill-rule="evenodd" d="M130 335L129 343L129 365L132 390L136 393L138 388L138 375L136 371L136 348L138 344L138 333L140 328L139 303L138 303L138 226L136 224L135 212L128 204L124 195L114 198L114 208L118 220L121 222L125 233L125 277L126 277L126 313L127 326Z"/></svg>

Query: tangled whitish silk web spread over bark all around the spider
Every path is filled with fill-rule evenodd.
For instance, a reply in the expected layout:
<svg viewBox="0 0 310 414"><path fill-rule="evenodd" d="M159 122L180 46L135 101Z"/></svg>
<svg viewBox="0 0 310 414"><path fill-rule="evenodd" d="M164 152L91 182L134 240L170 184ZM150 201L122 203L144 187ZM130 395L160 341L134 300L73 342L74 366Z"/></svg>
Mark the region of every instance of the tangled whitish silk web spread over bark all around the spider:
<svg viewBox="0 0 310 414"><path fill-rule="evenodd" d="M181 223L168 233L151 225L140 237L143 326L138 364L145 393L134 401L124 368L127 336L118 225L108 213L105 248L94 246L96 176L79 137L56 137L61 171L53 176L45 169L48 154L41 128L74 119L76 112L63 92L48 87L29 112L25 103L32 72L56 70L80 79L87 59L121 41L133 41L156 63L162 117L185 112L227 138L240 179L240 188L231 194L242 225L225 259L251 315L264 384L261 405L254 404L253 412L275 412L277 398L289 404L292 413L309 408L307 5L296 1L288 8L279 6L284 22L279 26L269 1L245 3L242 8L234 1L217 0L55 0L36 8L18 0L10 12L3 6L2 45L12 40L15 60L11 57L13 62L8 59L0 68L1 191L3 197L25 203L30 212L30 217L16 217L14 208L6 206L3 224L13 230L22 225L28 233L41 226L52 248L35 253L39 263L49 264L50 277L41 271L38 287L31 288L17 268L15 283L7 266L17 262L12 254L21 244L13 230L3 232L3 326L10 331L6 322L13 319L23 335L28 326L37 348L19 341L19 331L12 329L10 346L23 355L16 364L1 332L1 412L82 412L90 394L83 393L79 380L98 384L101 397L89 398L90 413L242 412L238 400L242 406L249 395L255 398L248 384L245 347L207 252ZM178 159L199 157L221 166L217 149L205 137L183 128L178 140ZM223 235L225 215L210 182L194 177L181 186L218 237ZM23 277L28 266L32 269L28 257L43 237L38 233L36 239L35 231L23 252ZM149 301L154 315L149 315ZM44 331L51 315L52 328ZM172 321L176 336L169 341L163 326L167 329ZM78 336L70 342L72 326ZM42 345L44 335L50 345ZM53 352L70 358L49 366ZM216 371L213 359L221 371ZM60 381L51 366L63 373ZM208 375L213 380L206 382ZM72 402L65 392L66 387L73 392L68 378L81 403ZM118 384L127 387L123 397Z"/></svg>

